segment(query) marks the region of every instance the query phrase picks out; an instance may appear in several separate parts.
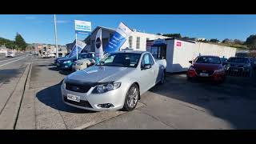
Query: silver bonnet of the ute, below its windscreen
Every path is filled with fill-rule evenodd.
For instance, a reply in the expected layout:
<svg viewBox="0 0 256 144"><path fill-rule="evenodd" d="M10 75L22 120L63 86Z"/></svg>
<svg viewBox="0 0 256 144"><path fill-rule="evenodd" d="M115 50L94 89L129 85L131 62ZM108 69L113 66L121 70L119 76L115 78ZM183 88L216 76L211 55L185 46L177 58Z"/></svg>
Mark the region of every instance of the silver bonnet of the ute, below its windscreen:
<svg viewBox="0 0 256 144"><path fill-rule="evenodd" d="M113 82L124 77L132 67L119 66L90 66L84 70L78 70L67 76L67 80L77 82Z"/></svg>

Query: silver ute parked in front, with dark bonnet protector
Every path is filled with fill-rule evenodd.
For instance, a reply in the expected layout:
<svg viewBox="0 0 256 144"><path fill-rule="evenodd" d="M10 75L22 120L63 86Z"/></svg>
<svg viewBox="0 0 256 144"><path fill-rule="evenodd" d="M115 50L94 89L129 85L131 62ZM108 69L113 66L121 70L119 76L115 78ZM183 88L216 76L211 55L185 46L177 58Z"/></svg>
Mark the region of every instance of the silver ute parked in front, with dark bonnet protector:
<svg viewBox="0 0 256 144"><path fill-rule="evenodd" d="M119 51L64 78L62 100L86 110L134 110L140 95L165 81L165 66L146 51Z"/></svg>

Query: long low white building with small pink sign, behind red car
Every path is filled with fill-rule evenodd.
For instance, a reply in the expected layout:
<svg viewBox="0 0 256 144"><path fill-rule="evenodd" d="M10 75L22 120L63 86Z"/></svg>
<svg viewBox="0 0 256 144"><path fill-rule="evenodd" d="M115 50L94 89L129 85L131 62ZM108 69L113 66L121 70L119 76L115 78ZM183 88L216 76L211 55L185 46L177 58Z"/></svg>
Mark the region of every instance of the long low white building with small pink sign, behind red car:
<svg viewBox="0 0 256 144"><path fill-rule="evenodd" d="M214 55L220 58L234 57L236 48L196 42L180 38L163 38L146 42L146 50L156 59L166 59L166 72L186 71L189 61L199 55Z"/></svg>

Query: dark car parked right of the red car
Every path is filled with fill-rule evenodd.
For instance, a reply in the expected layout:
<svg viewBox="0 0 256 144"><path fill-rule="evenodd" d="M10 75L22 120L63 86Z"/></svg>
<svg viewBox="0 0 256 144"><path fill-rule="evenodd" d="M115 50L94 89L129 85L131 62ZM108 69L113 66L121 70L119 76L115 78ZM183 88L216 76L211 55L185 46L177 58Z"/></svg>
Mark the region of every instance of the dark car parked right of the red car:
<svg viewBox="0 0 256 144"><path fill-rule="evenodd" d="M253 71L250 58L247 57L231 57L227 60L225 67L229 75L250 76Z"/></svg>

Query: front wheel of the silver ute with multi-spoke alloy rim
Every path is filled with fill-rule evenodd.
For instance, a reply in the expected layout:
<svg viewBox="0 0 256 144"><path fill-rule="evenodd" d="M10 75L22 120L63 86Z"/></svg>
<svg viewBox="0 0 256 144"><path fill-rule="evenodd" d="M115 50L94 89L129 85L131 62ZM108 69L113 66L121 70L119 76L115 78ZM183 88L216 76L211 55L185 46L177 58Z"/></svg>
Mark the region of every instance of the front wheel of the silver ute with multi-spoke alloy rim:
<svg viewBox="0 0 256 144"><path fill-rule="evenodd" d="M124 102L123 110L131 111L137 106L139 98L139 90L136 84L132 84L127 91L126 99Z"/></svg>

